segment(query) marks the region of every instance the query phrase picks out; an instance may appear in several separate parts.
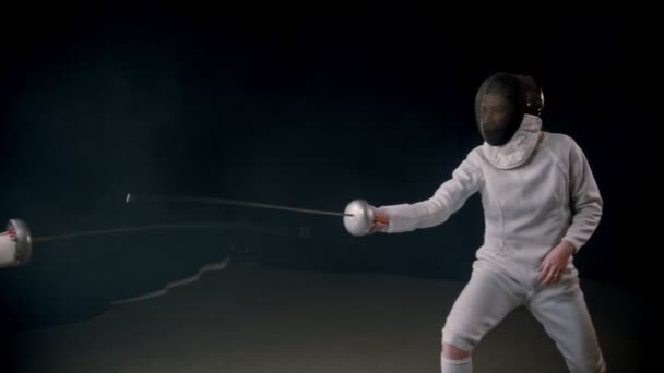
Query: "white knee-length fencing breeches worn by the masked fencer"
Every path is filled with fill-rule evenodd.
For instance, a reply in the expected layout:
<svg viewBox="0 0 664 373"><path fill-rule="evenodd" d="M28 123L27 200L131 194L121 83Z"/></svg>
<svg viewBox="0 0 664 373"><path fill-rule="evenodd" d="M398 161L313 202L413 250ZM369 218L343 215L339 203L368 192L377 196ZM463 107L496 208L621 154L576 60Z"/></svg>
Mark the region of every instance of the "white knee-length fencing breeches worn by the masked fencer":
<svg viewBox="0 0 664 373"><path fill-rule="evenodd" d="M525 305L555 341L572 373L606 370L576 275L549 286L522 284L478 263L442 328L442 342L472 351L512 310Z"/></svg>

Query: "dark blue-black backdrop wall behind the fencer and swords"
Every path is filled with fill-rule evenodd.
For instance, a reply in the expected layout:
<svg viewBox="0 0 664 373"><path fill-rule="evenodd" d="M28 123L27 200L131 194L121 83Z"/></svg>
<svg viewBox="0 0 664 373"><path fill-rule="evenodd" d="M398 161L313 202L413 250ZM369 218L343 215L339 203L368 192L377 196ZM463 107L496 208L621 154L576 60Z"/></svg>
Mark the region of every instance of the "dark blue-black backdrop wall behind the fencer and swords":
<svg viewBox="0 0 664 373"><path fill-rule="evenodd" d="M605 216L577 257L581 276L636 284L639 260L626 255L636 226L625 217L638 191L638 21L452 19L112 7L33 19L1 64L0 218L25 219L36 237L173 221L240 221L283 234L37 244L32 264L0 274L3 297L29 305L17 313L46 314L54 300L68 304L66 315L81 299L104 309L233 246L288 267L466 278L482 240L477 196L435 229L363 239L334 217L123 202L128 192L166 193L341 212L354 198L426 198L479 143L474 94L496 71L540 80L545 129L578 141L602 189Z"/></svg>

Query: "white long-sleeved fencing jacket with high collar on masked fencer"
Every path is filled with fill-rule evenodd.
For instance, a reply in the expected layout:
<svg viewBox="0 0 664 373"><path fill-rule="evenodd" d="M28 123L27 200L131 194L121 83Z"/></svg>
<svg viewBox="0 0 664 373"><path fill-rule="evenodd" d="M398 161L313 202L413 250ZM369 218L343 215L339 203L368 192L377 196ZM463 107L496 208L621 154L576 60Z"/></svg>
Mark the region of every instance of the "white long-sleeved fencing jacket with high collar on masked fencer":
<svg viewBox="0 0 664 373"><path fill-rule="evenodd" d="M475 192L485 216L477 258L529 280L560 240L579 252L602 217L602 196L582 149L568 135L542 131L542 120L526 115L509 143L475 147L430 198L379 207L390 220L386 232L438 226ZM576 275L572 258L567 273Z"/></svg>

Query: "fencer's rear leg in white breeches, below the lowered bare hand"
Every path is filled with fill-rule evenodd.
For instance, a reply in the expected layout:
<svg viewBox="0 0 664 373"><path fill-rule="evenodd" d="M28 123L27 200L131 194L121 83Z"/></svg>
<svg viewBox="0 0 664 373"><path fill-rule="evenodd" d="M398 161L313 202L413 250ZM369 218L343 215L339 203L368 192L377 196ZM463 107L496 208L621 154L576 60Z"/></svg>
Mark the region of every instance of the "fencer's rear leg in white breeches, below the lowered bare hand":
<svg viewBox="0 0 664 373"><path fill-rule="evenodd" d="M526 306L554 340L570 372L606 372L579 278L570 277L543 287L529 299Z"/></svg>

